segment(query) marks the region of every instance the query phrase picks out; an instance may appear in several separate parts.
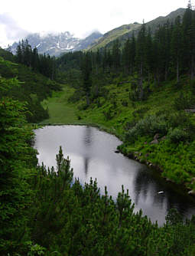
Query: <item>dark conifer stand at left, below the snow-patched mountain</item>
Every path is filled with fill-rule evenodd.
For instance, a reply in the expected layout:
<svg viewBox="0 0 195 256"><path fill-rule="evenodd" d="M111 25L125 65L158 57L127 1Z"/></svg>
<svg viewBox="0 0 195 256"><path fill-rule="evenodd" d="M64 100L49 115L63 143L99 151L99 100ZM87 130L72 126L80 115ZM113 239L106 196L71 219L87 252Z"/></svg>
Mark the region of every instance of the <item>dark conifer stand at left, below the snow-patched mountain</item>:
<svg viewBox="0 0 195 256"><path fill-rule="evenodd" d="M32 49L28 40L19 41L16 57L18 63L30 67L33 71L38 71L51 80L56 78L55 57L50 57L49 54L38 54L37 48Z"/></svg>

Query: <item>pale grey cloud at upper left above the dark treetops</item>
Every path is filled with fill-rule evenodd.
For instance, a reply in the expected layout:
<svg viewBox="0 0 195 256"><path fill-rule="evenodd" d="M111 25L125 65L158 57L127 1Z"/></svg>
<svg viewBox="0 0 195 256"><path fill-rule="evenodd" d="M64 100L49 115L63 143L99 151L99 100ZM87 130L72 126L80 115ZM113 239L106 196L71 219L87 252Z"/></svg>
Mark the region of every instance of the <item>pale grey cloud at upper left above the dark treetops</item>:
<svg viewBox="0 0 195 256"><path fill-rule="evenodd" d="M8 41L18 41L29 34L28 31L20 28L15 19L11 18L8 13L0 14L0 28L1 31L4 31Z"/></svg>

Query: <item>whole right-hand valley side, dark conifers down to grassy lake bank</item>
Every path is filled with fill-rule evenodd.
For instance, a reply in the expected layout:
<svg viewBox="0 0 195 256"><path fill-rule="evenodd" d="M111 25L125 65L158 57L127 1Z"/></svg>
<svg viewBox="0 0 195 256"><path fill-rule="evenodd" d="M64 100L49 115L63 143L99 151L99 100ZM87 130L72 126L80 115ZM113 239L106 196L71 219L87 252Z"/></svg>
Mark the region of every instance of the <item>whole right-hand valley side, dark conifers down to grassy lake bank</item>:
<svg viewBox="0 0 195 256"><path fill-rule="evenodd" d="M123 45L116 40L112 48L57 60L60 79L75 88L70 102L78 103L79 120L90 115L106 124L121 137L122 153L192 193L194 25L189 2L183 18L167 21L153 36L143 24Z"/></svg>

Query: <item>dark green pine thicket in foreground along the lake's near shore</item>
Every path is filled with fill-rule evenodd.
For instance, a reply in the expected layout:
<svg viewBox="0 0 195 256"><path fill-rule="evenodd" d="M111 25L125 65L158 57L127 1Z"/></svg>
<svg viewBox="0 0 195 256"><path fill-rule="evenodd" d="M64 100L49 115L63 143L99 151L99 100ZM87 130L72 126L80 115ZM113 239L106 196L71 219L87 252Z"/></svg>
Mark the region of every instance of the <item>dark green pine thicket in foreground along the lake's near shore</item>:
<svg viewBox="0 0 195 256"><path fill-rule="evenodd" d="M41 166L34 176L31 234L35 242L46 248L46 255L55 251L59 255L128 256L158 252L174 256L184 255L187 248L193 251L193 219L183 221L172 210L167 223L158 228L141 211L134 212L123 186L115 201L106 188L101 195L92 179L85 185L76 179L70 186L73 172L61 149L57 170Z"/></svg>

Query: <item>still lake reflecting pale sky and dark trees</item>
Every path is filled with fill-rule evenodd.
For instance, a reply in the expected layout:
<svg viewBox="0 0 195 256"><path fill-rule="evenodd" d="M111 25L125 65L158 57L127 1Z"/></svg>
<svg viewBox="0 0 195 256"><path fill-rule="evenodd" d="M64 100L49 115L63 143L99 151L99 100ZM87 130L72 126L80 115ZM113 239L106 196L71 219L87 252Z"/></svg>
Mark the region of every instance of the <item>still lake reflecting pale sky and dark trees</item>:
<svg viewBox="0 0 195 256"><path fill-rule="evenodd" d="M74 176L82 184L89 182L90 177L97 179L100 191L103 193L106 185L114 199L124 185L135 203L135 211L141 208L152 222L163 224L167 211L173 207L184 217L195 214L192 196L165 182L157 171L115 153L121 141L113 135L90 126L45 126L35 130L35 134L34 147L40 163L55 167L56 154L62 146L63 155L70 157Z"/></svg>

